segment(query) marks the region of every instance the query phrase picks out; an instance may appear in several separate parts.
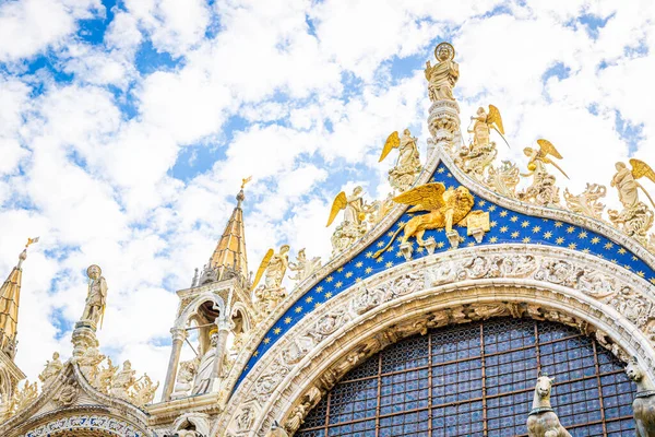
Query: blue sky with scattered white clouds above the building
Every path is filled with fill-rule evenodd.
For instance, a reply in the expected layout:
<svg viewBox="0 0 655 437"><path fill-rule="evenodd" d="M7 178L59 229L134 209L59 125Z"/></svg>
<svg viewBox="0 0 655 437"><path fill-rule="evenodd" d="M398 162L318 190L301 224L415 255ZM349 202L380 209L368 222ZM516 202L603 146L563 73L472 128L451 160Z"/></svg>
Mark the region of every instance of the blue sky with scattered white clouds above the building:
<svg viewBox="0 0 655 437"><path fill-rule="evenodd" d="M655 164L651 0L401 3L0 0L0 274L40 236L19 326L29 379L70 356L97 263L102 351L163 380L174 292L242 177L250 270L284 243L327 260L334 196L390 191L386 135L409 127L425 151L422 69L441 40L457 50L463 129L500 108L501 158L523 168L521 149L546 138L574 193L609 185L618 160Z"/></svg>

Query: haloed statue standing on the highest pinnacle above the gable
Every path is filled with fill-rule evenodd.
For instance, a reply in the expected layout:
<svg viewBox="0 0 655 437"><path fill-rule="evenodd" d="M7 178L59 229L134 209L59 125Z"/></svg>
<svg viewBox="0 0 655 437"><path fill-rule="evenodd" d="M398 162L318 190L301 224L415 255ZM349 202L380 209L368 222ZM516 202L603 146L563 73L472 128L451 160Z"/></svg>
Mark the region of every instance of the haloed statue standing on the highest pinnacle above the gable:
<svg viewBox="0 0 655 437"><path fill-rule="evenodd" d="M455 59L455 48L449 43L441 43L434 49L437 64L426 62L426 79L428 80L428 95L430 102L454 101L453 87L460 79L460 66Z"/></svg>

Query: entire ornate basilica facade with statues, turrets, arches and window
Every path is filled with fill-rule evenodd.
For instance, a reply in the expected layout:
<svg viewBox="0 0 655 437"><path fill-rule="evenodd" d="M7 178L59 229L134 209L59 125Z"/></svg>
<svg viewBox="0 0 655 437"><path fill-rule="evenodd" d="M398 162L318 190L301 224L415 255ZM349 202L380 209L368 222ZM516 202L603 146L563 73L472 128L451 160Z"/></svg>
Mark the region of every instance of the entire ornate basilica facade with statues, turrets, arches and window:
<svg viewBox="0 0 655 437"><path fill-rule="evenodd" d="M73 356L21 382L23 251L0 293L0 435L655 436L655 172L633 158L572 193L558 185L565 150L546 139L497 162L501 110L479 108L466 144L455 50L434 57L427 152L406 129L389 135L394 192L335 197L327 262L283 245L251 275L243 180L177 292L160 387L102 354L111 279L98 265ZM622 209L605 211L617 194Z"/></svg>

